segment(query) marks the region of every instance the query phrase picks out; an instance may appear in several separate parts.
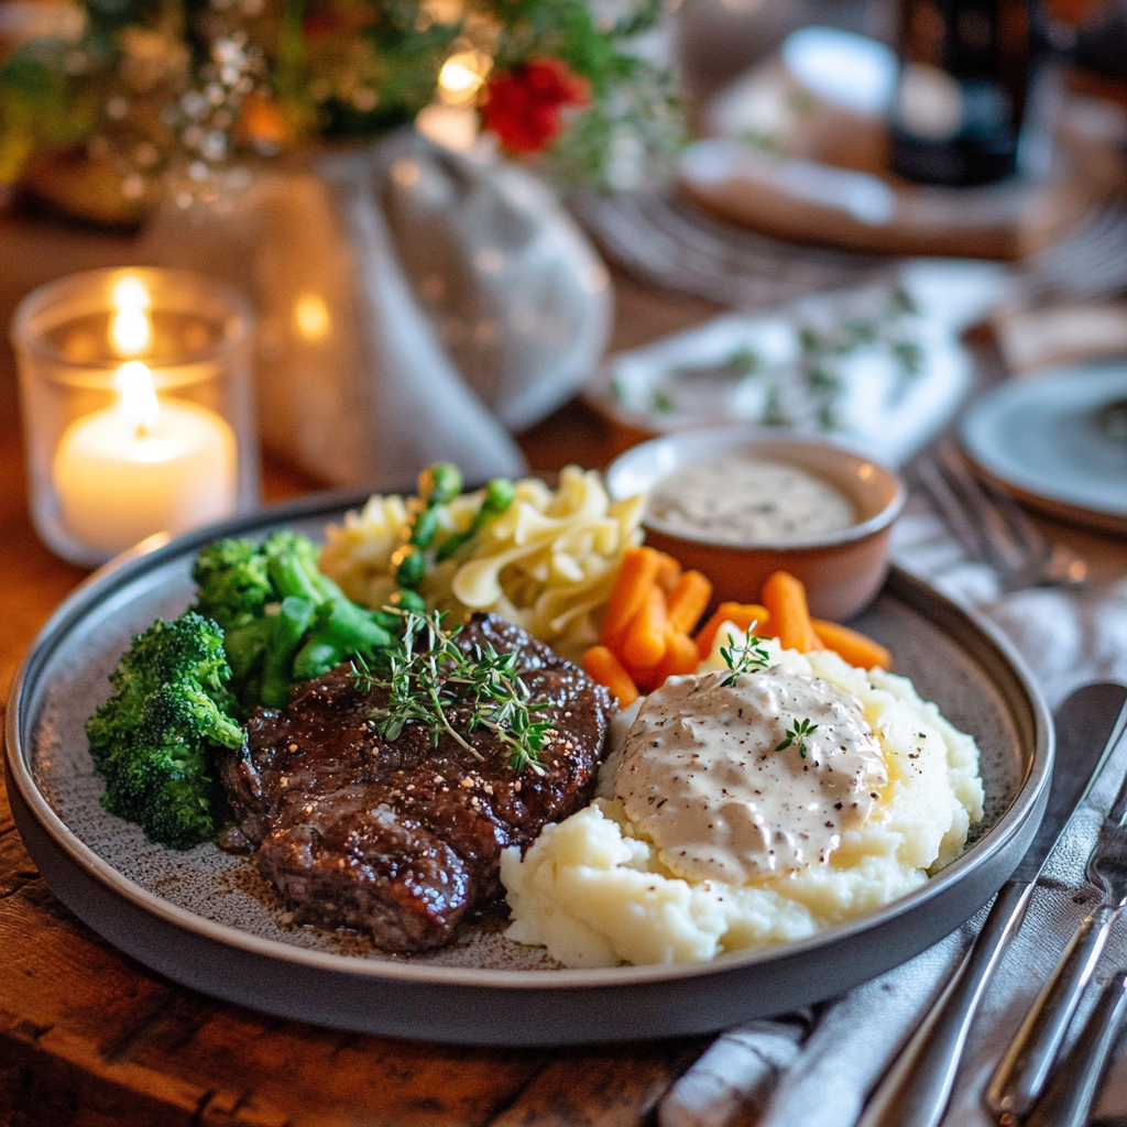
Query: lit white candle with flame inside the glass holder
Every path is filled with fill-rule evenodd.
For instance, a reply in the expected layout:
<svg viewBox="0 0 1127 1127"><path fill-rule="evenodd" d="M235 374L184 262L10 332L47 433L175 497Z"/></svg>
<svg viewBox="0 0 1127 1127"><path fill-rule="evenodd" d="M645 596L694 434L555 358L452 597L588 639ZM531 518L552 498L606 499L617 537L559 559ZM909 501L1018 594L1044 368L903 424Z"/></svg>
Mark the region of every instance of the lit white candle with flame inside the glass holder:
<svg viewBox="0 0 1127 1127"><path fill-rule="evenodd" d="M61 518L76 540L118 552L234 512L236 442L214 411L158 400L140 361L115 376L118 401L72 423L53 464Z"/></svg>

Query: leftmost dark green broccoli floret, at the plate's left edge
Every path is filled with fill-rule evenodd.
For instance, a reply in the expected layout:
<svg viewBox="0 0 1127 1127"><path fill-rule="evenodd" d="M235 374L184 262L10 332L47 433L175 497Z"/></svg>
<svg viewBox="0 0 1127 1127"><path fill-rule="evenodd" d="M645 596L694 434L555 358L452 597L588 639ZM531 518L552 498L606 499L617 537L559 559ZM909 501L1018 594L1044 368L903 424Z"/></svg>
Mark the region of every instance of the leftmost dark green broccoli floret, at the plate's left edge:
<svg viewBox="0 0 1127 1127"><path fill-rule="evenodd" d="M114 695L86 726L107 810L176 849L215 836L223 797L212 745L243 742L229 677L222 630L192 611L133 639L110 675Z"/></svg>

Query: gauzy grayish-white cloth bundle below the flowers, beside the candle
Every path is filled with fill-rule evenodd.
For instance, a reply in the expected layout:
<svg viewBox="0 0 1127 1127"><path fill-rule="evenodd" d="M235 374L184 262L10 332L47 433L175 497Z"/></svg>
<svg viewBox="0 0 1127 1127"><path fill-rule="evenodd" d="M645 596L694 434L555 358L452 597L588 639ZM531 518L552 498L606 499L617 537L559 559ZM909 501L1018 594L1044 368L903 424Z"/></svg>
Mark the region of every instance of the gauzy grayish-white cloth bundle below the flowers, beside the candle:
<svg viewBox="0 0 1127 1127"><path fill-rule="evenodd" d="M219 199L170 198L137 258L252 300L264 446L378 490L438 460L468 481L523 473L508 429L579 389L613 305L551 190L410 128L243 172Z"/></svg>

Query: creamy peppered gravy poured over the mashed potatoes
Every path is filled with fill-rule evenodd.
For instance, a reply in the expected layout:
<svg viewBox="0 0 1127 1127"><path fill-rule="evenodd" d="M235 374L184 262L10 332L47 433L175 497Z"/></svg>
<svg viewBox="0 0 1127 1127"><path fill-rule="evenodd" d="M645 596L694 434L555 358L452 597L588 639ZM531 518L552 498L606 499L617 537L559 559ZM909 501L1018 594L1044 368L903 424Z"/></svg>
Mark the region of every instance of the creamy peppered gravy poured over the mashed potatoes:
<svg viewBox="0 0 1127 1127"><path fill-rule="evenodd" d="M859 702L781 666L671 677L627 733L614 792L686 880L824 864L869 816L888 772ZM796 721L817 728L777 749Z"/></svg>

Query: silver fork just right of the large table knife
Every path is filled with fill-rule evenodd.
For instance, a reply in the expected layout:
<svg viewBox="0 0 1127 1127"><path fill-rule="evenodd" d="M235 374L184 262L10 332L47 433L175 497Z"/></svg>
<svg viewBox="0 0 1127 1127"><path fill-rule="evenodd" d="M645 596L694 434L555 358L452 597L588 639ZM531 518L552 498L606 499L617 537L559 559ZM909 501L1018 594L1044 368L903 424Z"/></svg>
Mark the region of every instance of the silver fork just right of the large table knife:
<svg viewBox="0 0 1127 1127"><path fill-rule="evenodd" d="M1127 728L1127 711L1120 715L1118 740ZM1081 996L1091 980L1108 933L1127 905L1127 779L1124 780L1088 861L1088 879L1102 893L1088 914L986 1088L986 1106L995 1115L1019 1119L1027 1116L1045 1088L1057 1053Z"/></svg>

